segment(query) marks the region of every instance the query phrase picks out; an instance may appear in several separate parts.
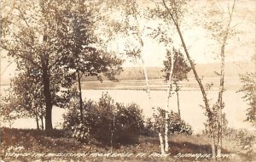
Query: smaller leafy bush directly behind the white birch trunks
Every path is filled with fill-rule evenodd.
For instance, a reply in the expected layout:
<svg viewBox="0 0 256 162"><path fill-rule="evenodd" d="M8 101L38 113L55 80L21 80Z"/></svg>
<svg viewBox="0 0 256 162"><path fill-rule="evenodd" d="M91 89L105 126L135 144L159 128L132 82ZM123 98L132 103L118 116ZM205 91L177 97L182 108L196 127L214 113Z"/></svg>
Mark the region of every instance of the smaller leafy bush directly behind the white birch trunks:
<svg viewBox="0 0 256 162"><path fill-rule="evenodd" d="M145 122L144 130L143 130L143 135L145 136L150 136L150 137L155 137L158 135L158 132L156 128L160 129L162 133L164 133L165 130L165 116L166 116L166 111L164 109L158 108L158 115L155 115L154 122L152 119L147 119ZM171 110L171 113L169 113L169 133L174 134L186 134L186 135L191 135L193 130L192 127L186 123L184 120L182 120L177 113L174 113Z"/></svg>

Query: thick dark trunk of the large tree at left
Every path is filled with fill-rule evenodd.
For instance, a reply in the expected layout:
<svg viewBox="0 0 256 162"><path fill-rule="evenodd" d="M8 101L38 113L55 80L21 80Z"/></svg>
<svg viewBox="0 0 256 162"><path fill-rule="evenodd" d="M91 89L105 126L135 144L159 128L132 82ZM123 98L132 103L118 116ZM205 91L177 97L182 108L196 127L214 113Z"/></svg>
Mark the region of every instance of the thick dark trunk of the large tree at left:
<svg viewBox="0 0 256 162"><path fill-rule="evenodd" d="M44 83L44 98L45 98L45 107L46 107L46 113L45 113L45 130L52 130L52 98L50 94L50 78L49 78L49 70L44 68L43 70L43 83Z"/></svg>

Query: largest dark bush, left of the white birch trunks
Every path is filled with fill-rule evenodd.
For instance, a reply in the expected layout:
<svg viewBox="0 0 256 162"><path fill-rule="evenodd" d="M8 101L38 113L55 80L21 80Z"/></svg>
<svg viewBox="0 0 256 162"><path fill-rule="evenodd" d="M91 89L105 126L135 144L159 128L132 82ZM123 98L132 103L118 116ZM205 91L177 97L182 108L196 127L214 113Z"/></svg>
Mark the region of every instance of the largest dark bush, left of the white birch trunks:
<svg viewBox="0 0 256 162"><path fill-rule="evenodd" d="M114 103L113 99L102 94L99 102L85 101L83 122L80 120L79 106L73 105L64 115L63 128L72 132L81 142L93 138L104 144L135 143L143 130L142 110L137 104L125 106Z"/></svg>

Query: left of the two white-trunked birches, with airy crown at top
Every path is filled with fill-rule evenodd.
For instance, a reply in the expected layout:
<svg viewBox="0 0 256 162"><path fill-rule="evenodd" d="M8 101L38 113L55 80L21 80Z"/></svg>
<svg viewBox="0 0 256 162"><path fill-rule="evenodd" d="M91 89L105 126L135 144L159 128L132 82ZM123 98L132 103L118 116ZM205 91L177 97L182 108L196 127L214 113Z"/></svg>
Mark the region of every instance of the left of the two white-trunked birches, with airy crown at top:
<svg viewBox="0 0 256 162"><path fill-rule="evenodd" d="M146 26L142 23L142 20L145 20L143 17L144 9L139 8L138 2L136 0L132 1L111 1L107 2L108 6L110 6L110 10L112 12L118 13L119 19L114 19L109 22L112 27L110 36L113 36L113 40L116 40L116 37L122 37L122 41L125 41L125 56L137 61L140 61L143 68L143 75L146 83L146 92L148 94L148 99L151 105L151 109L153 109L153 116L155 113L154 102L150 92L150 86L148 81L148 73L145 67L145 62L143 59L143 48L144 48L144 39L146 37ZM119 9L115 9L114 7L118 7ZM164 154L164 142L159 131L160 137L160 147L161 153Z"/></svg>

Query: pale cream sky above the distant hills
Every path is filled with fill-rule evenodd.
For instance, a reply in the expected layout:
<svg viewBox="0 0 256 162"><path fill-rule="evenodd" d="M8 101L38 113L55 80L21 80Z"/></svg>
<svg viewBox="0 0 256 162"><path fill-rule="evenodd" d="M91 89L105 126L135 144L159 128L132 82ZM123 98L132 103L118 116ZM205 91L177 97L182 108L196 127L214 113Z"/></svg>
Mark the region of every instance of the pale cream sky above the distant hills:
<svg viewBox="0 0 256 162"><path fill-rule="evenodd" d="M222 8L227 9L227 1L223 1ZM232 1L230 1L232 2ZM207 8L207 0L191 1L189 3L191 8L200 13ZM197 14L198 14L197 13ZM197 15L195 13L195 15ZM194 14L187 15L183 21L186 23L182 26L183 37L189 48L191 58L195 60L196 64L218 63L218 53L220 47L218 42L212 41L211 36L201 25L195 25L196 20L204 20L204 17L198 17ZM255 31L256 31L256 1L253 0L240 0L237 1L236 9L233 15L232 25L236 25L236 30L240 31L239 34L230 38L226 46L226 61L250 61L253 54L255 54ZM173 32L172 40L173 47L183 49L180 45L180 39ZM161 46L158 42L151 38L145 38L143 47L143 59L146 66L163 66L163 60L166 55L166 47ZM0 52L1 56L4 55L3 51ZM140 66L141 64L134 63L129 59L124 58L124 66ZM1 80L9 81L10 77L15 75L15 64L10 64L11 59L1 58Z"/></svg>

